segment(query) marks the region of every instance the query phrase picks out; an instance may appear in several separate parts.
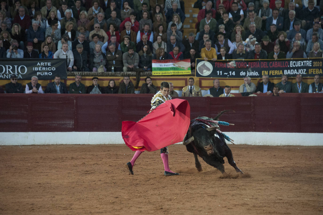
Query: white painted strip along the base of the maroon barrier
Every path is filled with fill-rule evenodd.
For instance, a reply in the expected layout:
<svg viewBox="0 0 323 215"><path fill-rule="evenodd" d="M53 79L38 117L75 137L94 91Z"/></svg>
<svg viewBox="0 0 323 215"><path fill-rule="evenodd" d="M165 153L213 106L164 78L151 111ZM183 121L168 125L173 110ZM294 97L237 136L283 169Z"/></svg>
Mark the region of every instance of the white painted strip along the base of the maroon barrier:
<svg viewBox="0 0 323 215"><path fill-rule="evenodd" d="M236 145L323 146L323 133L226 132L225 134L234 139ZM1 132L0 137L0 145L124 144L121 132Z"/></svg>

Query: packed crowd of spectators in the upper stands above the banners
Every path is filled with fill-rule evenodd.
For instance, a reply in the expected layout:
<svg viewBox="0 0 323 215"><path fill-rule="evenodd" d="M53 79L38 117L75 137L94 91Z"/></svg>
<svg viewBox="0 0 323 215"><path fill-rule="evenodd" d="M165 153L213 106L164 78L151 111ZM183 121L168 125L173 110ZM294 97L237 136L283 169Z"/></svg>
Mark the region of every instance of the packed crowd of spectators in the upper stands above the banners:
<svg viewBox="0 0 323 215"><path fill-rule="evenodd" d="M191 59L194 69L196 58L322 57L323 1L246 3L198 0L197 34L183 38L179 0L1 0L0 58L68 55L69 71L140 74L151 59Z"/></svg>

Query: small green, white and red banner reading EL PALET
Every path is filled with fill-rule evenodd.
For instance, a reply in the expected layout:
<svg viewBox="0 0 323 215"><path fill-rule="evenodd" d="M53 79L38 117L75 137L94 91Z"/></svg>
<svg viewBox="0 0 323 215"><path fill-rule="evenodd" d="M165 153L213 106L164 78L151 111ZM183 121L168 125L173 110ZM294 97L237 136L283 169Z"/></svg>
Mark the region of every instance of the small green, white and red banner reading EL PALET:
<svg viewBox="0 0 323 215"><path fill-rule="evenodd" d="M152 75L190 75L191 60L152 60Z"/></svg>

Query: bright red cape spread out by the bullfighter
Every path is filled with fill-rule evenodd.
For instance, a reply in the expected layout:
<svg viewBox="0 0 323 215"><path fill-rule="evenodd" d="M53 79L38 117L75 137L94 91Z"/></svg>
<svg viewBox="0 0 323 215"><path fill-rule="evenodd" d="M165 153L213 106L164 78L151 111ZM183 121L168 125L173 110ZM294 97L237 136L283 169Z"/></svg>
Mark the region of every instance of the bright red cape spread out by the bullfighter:
<svg viewBox="0 0 323 215"><path fill-rule="evenodd" d="M187 100L168 100L138 122L122 121L122 138L132 151L151 152L182 142L190 115Z"/></svg>

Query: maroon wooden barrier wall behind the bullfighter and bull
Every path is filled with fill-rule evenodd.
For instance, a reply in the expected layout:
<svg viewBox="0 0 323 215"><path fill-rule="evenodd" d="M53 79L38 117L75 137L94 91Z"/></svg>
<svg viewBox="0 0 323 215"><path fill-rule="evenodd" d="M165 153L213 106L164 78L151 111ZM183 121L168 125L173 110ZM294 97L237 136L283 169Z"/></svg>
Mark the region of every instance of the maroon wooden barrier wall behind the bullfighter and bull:
<svg viewBox="0 0 323 215"><path fill-rule="evenodd" d="M152 96L2 94L0 132L120 132L122 121L138 121L147 114ZM220 120L235 126L222 126L223 131L322 133L322 96L286 93L280 97L186 99L191 105L191 119L233 110Z"/></svg>

